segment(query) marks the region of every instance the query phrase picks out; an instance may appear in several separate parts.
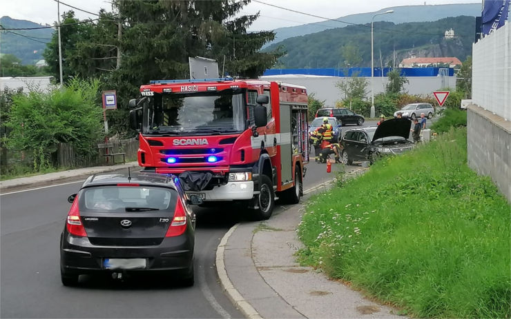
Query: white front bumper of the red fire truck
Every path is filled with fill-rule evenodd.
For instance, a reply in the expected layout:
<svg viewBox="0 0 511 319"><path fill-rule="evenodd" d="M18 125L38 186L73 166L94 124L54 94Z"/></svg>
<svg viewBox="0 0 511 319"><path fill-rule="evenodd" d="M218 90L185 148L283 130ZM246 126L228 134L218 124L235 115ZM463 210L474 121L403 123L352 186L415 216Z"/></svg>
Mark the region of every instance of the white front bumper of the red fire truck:
<svg viewBox="0 0 511 319"><path fill-rule="evenodd" d="M201 192L186 192L188 195L197 195L203 200L242 200L253 198L253 181L229 182L226 185L215 186L211 190Z"/></svg>

